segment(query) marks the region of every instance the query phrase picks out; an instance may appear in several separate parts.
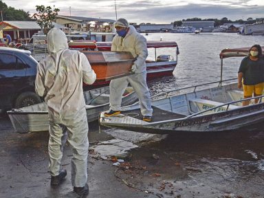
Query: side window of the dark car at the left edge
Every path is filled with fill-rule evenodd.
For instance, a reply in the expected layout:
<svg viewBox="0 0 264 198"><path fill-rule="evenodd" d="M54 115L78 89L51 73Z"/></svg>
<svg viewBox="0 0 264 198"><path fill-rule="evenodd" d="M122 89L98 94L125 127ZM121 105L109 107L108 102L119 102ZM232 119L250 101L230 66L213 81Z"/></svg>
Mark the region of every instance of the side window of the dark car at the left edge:
<svg viewBox="0 0 264 198"><path fill-rule="evenodd" d="M0 54L0 70L24 69L24 63L11 54Z"/></svg>

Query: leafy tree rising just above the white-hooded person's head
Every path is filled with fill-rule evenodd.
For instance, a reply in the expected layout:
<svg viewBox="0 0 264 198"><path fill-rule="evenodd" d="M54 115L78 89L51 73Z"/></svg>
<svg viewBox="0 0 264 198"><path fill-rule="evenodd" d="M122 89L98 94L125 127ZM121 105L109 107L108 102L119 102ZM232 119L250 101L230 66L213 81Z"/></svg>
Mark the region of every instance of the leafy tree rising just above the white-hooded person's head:
<svg viewBox="0 0 264 198"><path fill-rule="evenodd" d="M36 5L36 11L38 13L33 14L33 17L36 19L36 23L41 26L41 30L47 34L50 29L54 28L52 22L56 19L60 9L54 8L54 10L52 10L50 6L45 7L44 5Z"/></svg>

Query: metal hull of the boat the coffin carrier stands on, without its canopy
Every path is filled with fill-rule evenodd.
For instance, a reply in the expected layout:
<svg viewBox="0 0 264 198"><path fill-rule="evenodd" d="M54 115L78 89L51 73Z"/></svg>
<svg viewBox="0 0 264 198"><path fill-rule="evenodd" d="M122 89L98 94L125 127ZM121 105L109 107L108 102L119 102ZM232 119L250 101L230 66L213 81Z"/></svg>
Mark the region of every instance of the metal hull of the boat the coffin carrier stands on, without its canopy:
<svg viewBox="0 0 264 198"><path fill-rule="evenodd" d="M140 117L129 116L130 112L139 108L134 104L124 107L124 115L118 117L104 118L101 113L100 124L142 133L178 133L232 131L244 127L250 128L252 124L264 121L264 102L242 107L242 100L232 101L234 97L233 93L230 94L232 91L237 91L236 83L153 100L154 120L150 123L142 121ZM198 100L205 101L201 105L201 111L198 111L197 103L192 104L193 101ZM213 100L225 100L225 102L216 102L217 104L214 105ZM176 114L178 118L175 119ZM155 118L156 116L158 118ZM162 120L160 117L166 118Z"/></svg>

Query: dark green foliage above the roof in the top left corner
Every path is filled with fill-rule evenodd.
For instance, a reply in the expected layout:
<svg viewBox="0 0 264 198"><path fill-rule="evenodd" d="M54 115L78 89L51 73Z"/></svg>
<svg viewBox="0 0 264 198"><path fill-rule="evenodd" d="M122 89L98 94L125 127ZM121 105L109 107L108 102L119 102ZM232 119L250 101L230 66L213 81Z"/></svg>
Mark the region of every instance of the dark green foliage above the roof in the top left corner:
<svg viewBox="0 0 264 198"><path fill-rule="evenodd" d="M3 1L0 1L0 10L2 11L3 21L30 21L29 12L24 10L16 10L8 7Z"/></svg>

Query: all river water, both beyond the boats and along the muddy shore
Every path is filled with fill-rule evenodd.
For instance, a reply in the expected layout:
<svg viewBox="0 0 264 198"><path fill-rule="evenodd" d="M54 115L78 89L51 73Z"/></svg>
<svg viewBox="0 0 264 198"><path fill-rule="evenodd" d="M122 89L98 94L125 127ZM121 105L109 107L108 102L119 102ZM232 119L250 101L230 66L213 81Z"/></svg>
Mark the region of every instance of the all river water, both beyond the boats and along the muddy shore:
<svg viewBox="0 0 264 198"><path fill-rule="evenodd" d="M161 37L176 41L180 54L173 76L148 82L151 95L220 80L221 50L264 45L264 36L224 33L155 33L146 39L159 41ZM172 49L157 50L157 54L172 53ZM153 57L153 52L149 56ZM241 58L224 59L223 79L236 78L240 62ZM150 197L263 198L263 126L232 133L181 135L102 129L101 134L110 134L115 140L101 142L95 149L102 155L125 153L125 161L133 169L118 176L135 188L152 192Z"/></svg>

